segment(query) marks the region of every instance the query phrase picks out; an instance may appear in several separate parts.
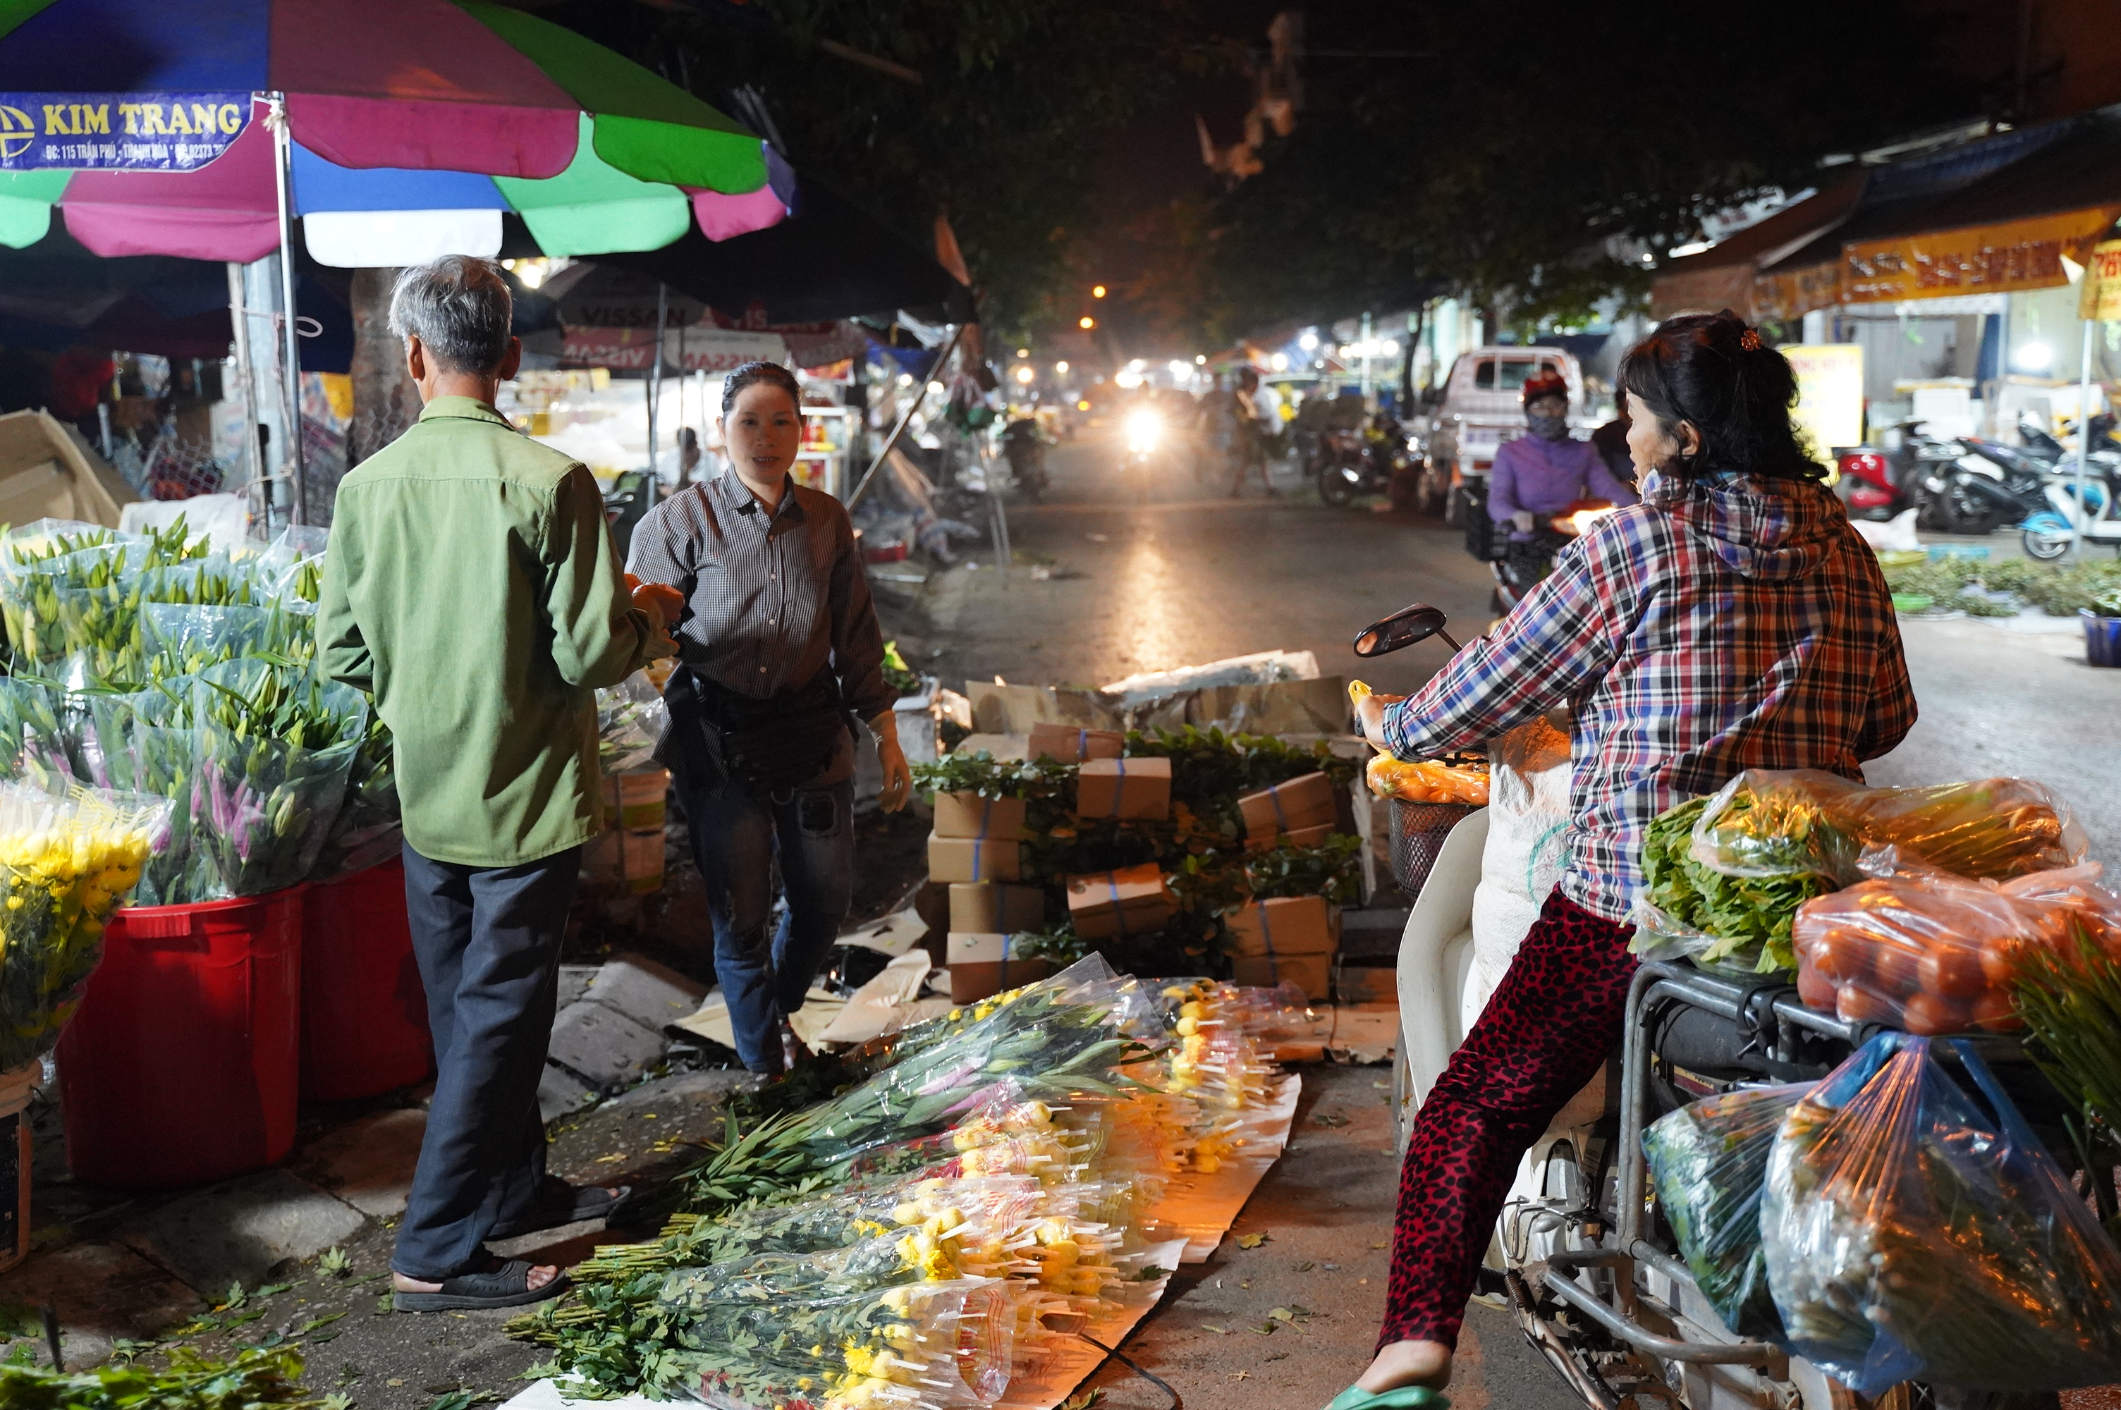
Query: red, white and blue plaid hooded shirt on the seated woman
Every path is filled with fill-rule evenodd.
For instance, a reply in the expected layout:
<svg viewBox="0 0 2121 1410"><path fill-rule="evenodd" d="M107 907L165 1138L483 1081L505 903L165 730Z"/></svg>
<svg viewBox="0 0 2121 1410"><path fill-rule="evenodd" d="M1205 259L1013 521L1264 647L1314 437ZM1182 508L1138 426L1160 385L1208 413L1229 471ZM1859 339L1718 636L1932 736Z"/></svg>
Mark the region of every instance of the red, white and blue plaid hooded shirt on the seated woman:
<svg viewBox="0 0 2121 1410"><path fill-rule="evenodd" d="M1489 636L1385 712L1402 759L1574 715L1561 891L1627 920L1642 833L1750 768L1862 778L1915 693L1877 556L1822 486L1722 475L1646 486Z"/></svg>

